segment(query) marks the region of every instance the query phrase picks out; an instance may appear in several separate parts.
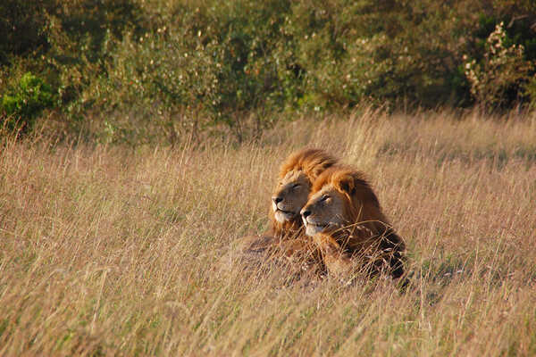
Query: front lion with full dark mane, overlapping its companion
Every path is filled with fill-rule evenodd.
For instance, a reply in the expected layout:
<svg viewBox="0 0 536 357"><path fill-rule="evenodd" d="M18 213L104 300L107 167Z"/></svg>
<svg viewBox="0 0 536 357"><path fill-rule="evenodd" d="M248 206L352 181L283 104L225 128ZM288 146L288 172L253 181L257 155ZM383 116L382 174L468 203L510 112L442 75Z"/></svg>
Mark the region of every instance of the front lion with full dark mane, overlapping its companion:
<svg viewBox="0 0 536 357"><path fill-rule="evenodd" d="M301 217L330 275L348 277L356 269L387 272L392 278L404 274L406 245L362 172L340 165L323 171Z"/></svg>

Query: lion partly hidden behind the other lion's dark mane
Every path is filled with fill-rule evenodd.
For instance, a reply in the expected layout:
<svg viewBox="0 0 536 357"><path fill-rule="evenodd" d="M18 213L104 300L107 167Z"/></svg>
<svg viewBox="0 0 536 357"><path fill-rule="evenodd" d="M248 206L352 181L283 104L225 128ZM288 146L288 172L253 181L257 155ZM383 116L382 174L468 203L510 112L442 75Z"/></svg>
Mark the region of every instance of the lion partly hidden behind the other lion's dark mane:
<svg viewBox="0 0 536 357"><path fill-rule="evenodd" d="M270 228L260 237L241 239L241 251L253 258L264 255L314 260L315 246L306 238L301 209L324 170L337 164L331 154L321 149L306 148L290 154L281 164L278 183L272 194Z"/></svg>

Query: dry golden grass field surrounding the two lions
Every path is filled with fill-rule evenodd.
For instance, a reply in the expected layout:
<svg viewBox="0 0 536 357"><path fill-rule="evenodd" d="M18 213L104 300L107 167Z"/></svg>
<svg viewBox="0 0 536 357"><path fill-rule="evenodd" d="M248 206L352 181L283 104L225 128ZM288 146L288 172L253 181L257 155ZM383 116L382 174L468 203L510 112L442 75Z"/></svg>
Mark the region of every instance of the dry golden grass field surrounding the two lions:
<svg viewBox="0 0 536 357"><path fill-rule="evenodd" d="M222 269L304 145L364 170L412 286ZM0 153L0 355L534 355L536 118L364 112L255 144Z"/></svg>

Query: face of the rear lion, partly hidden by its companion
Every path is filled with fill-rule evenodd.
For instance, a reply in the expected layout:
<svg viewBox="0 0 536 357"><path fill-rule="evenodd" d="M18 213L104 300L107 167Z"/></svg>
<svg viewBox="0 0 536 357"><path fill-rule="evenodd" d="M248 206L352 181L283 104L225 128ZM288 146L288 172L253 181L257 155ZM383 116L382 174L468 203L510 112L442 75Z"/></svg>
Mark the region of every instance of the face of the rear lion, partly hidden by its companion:
<svg viewBox="0 0 536 357"><path fill-rule="evenodd" d="M311 182L301 170L289 171L279 182L272 195L272 210L280 223L296 219L307 202Z"/></svg>

